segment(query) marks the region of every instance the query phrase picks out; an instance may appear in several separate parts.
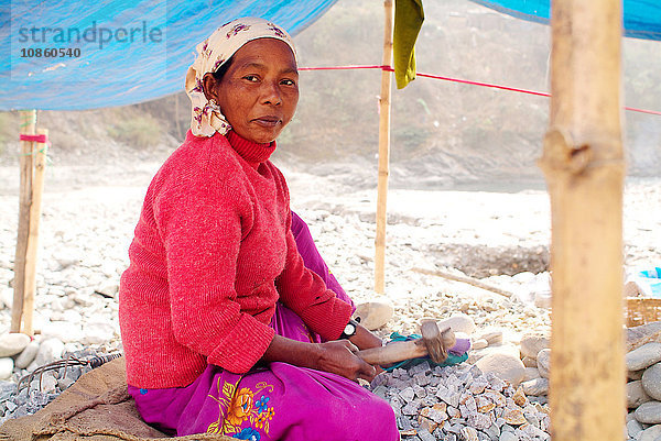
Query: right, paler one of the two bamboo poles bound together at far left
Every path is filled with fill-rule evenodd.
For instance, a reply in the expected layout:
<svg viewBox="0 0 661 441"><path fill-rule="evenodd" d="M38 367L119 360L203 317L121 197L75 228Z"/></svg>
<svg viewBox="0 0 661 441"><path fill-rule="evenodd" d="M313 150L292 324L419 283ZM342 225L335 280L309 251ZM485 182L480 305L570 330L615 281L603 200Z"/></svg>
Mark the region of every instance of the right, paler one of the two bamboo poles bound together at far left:
<svg viewBox="0 0 661 441"><path fill-rule="evenodd" d="M48 136L46 129L37 129L37 134ZM41 202L44 190L46 170L47 143L35 143L33 155L32 201L30 205L30 227L28 232L28 251L25 253L25 293L23 296L23 329L21 332L33 335L32 317L34 312L34 294L36 291L36 251L39 245L39 223Z"/></svg>

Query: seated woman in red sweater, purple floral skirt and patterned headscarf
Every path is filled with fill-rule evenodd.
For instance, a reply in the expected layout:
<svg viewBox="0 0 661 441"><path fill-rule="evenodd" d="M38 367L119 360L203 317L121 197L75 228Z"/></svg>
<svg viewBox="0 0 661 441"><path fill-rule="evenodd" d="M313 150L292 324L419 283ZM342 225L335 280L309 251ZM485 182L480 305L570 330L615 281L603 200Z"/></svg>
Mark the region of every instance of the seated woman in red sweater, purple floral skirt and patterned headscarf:
<svg viewBox="0 0 661 441"><path fill-rule="evenodd" d="M184 144L153 178L121 278L129 392L169 433L399 440L354 353L381 341L307 269L269 161L299 99L290 36L240 19L198 45Z"/></svg>

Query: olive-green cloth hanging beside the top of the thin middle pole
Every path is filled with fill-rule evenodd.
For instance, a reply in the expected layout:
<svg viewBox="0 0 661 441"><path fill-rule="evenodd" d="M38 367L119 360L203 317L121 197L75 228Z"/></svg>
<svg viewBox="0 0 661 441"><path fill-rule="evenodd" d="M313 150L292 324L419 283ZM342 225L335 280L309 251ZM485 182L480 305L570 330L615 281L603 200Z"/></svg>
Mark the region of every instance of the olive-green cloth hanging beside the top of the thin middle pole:
<svg viewBox="0 0 661 441"><path fill-rule="evenodd" d="M423 21L422 0L394 1L392 52L398 89L403 89L415 79L415 40Z"/></svg>

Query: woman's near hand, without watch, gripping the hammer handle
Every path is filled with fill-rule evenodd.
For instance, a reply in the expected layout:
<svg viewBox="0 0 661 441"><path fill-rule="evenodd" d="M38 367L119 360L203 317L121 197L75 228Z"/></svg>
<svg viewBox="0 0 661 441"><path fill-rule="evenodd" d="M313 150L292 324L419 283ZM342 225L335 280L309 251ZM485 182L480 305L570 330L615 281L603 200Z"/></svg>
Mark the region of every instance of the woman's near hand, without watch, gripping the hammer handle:
<svg viewBox="0 0 661 441"><path fill-rule="evenodd" d="M358 348L348 340L336 340L318 343L319 355L317 357L317 371L330 372L345 378L367 379L371 382L377 375L375 366L364 362L355 355Z"/></svg>

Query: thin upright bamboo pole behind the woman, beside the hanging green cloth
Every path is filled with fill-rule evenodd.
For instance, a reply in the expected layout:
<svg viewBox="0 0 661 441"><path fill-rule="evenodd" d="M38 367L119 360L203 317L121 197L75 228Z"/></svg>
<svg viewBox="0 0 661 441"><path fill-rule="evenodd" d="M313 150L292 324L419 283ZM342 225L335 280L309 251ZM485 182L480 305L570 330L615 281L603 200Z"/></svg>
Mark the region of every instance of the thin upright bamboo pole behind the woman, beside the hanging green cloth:
<svg viewBox="0 0 661 441"><path fill-rule="evenodd" d="M383 26L382 65L392 64L392 32L394 22L393 0L384 0L386 21ZM379 99L379 183L377 196L377 235L375 239L375 291L386 290L386 214L388 198L388 176L390 175L390 89L392 75L381 71L381 96Z"/></svg>

